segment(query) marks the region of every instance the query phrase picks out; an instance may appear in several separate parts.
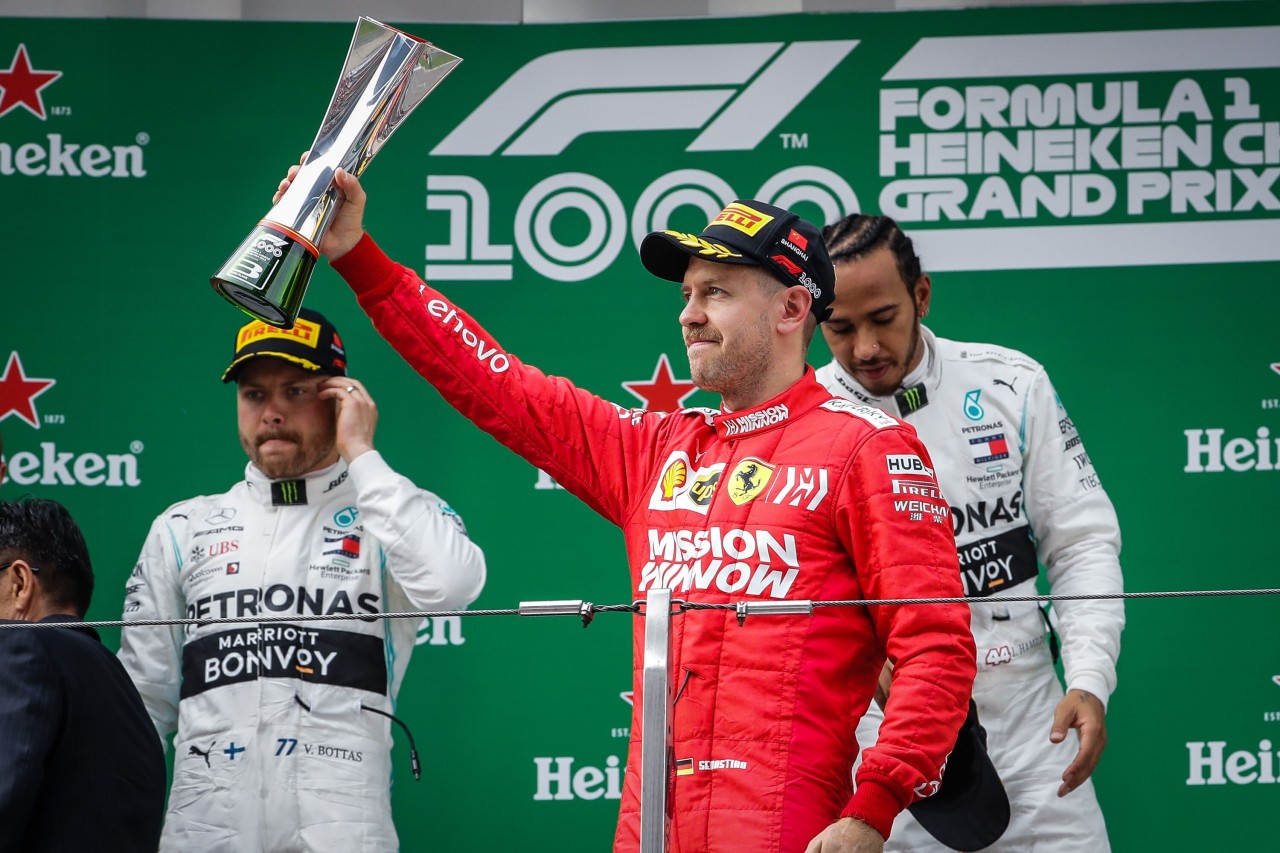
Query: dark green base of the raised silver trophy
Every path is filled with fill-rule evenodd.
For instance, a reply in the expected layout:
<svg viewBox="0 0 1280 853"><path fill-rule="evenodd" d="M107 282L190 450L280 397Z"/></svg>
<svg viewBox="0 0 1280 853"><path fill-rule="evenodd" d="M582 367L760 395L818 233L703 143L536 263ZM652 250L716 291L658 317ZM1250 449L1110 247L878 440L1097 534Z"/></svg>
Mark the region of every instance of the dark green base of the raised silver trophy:
<svg viewBox="0 0 1280 853"><path fill-rule="evenodd" d="M317 256L301 234L262 222L209 283L250 316L292 329Z"/></svg>

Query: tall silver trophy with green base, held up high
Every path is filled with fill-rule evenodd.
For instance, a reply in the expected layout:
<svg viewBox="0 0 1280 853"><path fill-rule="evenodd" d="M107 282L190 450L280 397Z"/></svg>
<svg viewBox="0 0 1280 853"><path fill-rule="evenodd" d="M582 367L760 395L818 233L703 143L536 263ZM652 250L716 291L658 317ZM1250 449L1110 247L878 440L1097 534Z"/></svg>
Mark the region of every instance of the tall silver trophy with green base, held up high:
<svg viewBox="0 0 1280 853"><path fill-rule="evenodd" d="M292 328L329 229L338 168L360 177L401 122L462 61L371 18L356 22L347 64L302 169L209 279L264 323Z"/></svg>

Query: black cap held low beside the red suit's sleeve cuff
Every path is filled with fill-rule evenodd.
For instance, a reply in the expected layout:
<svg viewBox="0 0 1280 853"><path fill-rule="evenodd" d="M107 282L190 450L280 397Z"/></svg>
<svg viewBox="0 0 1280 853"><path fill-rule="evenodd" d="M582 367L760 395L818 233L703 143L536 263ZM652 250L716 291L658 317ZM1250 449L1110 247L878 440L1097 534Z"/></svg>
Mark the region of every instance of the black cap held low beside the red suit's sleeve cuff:
<svg viewBox="0 0 1280 853"><path fill-rule="evenodd" d="M969 701L969 716L947 758L942 786L936 794L908 806L929 835L954 850L991 847L1009 829L1009 794L987 754L986 733L978 708Z"/></svg>

